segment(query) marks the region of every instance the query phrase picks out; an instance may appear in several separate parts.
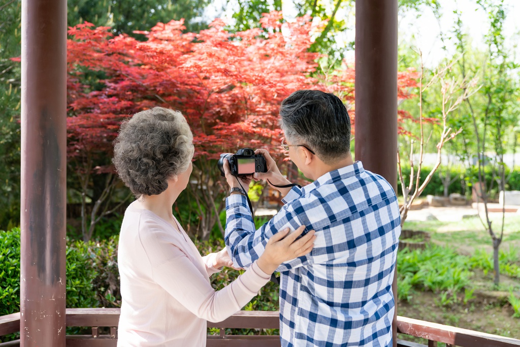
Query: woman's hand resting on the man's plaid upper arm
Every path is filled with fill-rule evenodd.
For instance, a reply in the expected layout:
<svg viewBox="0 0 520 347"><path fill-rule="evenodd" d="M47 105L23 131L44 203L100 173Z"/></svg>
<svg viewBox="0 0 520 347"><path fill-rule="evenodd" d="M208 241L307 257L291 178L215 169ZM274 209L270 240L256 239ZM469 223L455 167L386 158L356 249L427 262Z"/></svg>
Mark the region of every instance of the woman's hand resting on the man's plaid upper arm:
<svg viewBox="0 0 520 347"><path fill-rule="evenodd" d="M314 230L310 230L300 239L305 225L294 230L289 234L289 228L285 228L267 241L264 253L258 258L258 267L266 274L272 274L281 263L293 260L299 256L309 253L314 247L316 235ZM288 235L289 234L289 235Z"/></svg>

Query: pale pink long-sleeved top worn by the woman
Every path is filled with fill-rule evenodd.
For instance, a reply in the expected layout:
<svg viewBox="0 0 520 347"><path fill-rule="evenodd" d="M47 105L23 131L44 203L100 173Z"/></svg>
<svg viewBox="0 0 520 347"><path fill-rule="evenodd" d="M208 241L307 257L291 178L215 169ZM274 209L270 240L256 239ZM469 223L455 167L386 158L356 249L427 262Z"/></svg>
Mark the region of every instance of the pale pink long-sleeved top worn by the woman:
<svg viewBox="0 0 520 347"><path fill-rule="evenodd" d="M209 280L218 272L214 253L202 257L177 225L180 233L133 204L125 212L118 251L123 298L118 346L205 346L206 320L219 322L239 311L270 278L255 262L215 291Z"/></svg>

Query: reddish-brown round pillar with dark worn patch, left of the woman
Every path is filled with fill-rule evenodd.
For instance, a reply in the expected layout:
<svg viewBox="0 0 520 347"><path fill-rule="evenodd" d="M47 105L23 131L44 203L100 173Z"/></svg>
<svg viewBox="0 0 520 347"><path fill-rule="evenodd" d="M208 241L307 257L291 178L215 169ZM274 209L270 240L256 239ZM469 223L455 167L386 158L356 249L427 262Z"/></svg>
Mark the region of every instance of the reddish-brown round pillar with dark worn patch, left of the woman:
<svg viewBox="0 0 520 347"><path fill-rule="evenodd" d="M20 342L65 346L67 0L22 0Z"/></svg>

